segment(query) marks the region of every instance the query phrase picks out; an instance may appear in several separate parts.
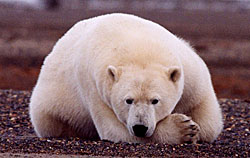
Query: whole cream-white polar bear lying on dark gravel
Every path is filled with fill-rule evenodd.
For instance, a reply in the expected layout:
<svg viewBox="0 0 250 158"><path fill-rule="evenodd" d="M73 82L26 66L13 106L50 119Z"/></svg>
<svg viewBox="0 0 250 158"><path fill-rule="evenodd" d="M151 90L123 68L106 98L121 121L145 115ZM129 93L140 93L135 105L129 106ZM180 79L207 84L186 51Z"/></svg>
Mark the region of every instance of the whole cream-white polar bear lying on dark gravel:
<svg viewBox="0 0 250 158"><path fill-rule="evenodd" d="M75 24L46 57L29 105L39 137L178 144L223 128L207 66L182 39L128 14Z"/></svg>

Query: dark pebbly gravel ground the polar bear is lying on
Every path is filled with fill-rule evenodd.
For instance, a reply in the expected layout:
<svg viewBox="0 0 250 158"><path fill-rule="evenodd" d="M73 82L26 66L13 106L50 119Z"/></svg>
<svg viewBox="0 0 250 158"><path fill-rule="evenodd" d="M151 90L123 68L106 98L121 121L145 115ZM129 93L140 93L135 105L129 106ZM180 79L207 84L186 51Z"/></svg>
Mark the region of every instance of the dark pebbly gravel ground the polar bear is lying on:
<svg viewBox="0 0 250 158"><path fill-rule="evenodd" d="M29 91L0 90L0 157L20 157L16 153L28 154L26 157L32 157L34 153L62 156L249 157L250 100L220 99L225 127L214 143L168 145L37 138L28 116L29 98Z"/></svg>

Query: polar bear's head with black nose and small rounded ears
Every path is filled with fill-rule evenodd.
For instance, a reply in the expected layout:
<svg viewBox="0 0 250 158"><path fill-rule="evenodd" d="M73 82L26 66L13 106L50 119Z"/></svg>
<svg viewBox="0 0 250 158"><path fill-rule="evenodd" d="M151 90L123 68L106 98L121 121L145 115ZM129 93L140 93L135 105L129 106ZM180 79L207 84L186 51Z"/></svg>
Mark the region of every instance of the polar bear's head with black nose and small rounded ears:
<svg viewBox="0 0 250 158"><path fill-rule="evenodd" d="M152 136L157 123L171 114L183 91L181 71L179 66L108 66L111 108L131 135Z"/></svg>

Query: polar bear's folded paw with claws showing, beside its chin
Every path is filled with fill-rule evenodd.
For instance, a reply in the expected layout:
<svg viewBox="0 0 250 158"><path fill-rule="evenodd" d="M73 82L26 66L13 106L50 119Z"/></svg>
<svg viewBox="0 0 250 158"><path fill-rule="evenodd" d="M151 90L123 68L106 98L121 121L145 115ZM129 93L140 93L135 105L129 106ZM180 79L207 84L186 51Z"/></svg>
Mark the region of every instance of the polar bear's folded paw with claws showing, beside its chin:
<svg viewBox="0 0 250 158"><path fill-rule="evenodd" d="M199 140L200 127L184 114L170 114L157 124L152 136L154 142L180 144L196 143Z"/></svg>

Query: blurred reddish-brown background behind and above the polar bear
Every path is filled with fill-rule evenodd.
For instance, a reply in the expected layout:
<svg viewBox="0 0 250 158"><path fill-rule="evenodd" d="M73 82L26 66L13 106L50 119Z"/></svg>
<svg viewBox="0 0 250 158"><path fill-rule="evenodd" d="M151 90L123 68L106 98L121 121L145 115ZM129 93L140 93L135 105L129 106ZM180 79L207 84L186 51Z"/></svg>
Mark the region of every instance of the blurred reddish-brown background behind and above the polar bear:
<svg viewBox="0 0 250 158"><path fill-rule="evenodd" d="M44 57L77 21L141 16L189 41L219 98L250 96L250 1L0 0L0 88L32 90Z"/></svg>

